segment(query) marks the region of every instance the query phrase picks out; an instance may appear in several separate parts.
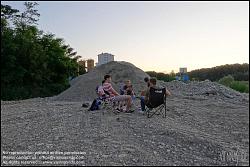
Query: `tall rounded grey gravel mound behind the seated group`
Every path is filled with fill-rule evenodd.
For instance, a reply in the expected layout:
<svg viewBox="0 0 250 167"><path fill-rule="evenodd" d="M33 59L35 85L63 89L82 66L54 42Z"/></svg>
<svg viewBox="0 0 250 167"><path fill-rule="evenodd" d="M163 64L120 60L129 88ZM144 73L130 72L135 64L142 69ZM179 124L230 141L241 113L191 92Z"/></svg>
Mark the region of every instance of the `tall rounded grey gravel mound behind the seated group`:
<svg viewBox="0 0 250 167"><path fill-rule="evenodd" d="M96 97L96 86L101 84L106 74L112 76L112 85L118 92L121 83L130 79L137 94L145 89L144 78L149 77L148 74L131 63L113 61L75 78L69 89L53 97L52 100L91 101Z"/></svg>

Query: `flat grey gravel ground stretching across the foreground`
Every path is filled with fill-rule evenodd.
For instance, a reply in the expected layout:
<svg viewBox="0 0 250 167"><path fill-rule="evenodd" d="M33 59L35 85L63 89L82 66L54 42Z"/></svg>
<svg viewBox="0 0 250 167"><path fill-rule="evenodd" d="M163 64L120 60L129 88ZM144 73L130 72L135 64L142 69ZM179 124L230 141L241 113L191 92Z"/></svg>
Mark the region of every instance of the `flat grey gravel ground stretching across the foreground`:
<svg viewBox="0 0 250 167"><path fill-rule="evenodd" d="M81 104L2 101L1 150L82 151L82 165L249 165L248 101L173 95L166 118Z"/></svg>

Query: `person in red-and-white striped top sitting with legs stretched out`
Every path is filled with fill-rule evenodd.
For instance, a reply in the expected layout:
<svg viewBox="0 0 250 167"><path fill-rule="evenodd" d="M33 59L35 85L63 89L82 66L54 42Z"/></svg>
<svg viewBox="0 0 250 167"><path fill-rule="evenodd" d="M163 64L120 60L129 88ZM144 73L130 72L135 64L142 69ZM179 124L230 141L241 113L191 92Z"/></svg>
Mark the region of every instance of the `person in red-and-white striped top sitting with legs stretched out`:
<svg viewBox="0 0 250 167"><path fill-rule="evenodd" d="M119 95L111 85L111 76L105 75L104 76L104 83L103 83L103 90L107 91L111 98L113 98L114 102L125 102L126 110L125 112L133 112L131 110L132 105L132 98L129 95Z"/></svg>

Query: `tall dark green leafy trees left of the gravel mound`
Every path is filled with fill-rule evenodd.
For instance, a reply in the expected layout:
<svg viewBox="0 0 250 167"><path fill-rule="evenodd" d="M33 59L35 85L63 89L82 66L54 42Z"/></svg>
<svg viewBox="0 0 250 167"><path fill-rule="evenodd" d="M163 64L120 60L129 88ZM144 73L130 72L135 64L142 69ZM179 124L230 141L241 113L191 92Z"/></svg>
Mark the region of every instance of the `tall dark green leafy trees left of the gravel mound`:
<svg viewBox="0 0 250 167"><path fill-rule="evenodd" d="M36 2L20 12L1 4L1 99L46 97L69 87L68 78L84 74L80 56L62 38L37 28Z"/></svg>

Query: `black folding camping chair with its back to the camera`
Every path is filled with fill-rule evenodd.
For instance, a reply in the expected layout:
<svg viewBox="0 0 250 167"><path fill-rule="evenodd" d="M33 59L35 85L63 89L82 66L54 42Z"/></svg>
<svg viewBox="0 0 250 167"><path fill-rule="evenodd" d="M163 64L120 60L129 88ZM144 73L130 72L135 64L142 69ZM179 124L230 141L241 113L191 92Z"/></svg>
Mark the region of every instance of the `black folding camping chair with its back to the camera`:
<svg viewBox="0 0 250 167"><path fill-rule="evenodd" d="M166 118L167 107L166 107L166 88L150 88L149 100L146 103L147 117L150 118L156 113L162 114L163 118Z"/></svg>

